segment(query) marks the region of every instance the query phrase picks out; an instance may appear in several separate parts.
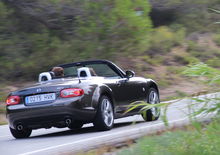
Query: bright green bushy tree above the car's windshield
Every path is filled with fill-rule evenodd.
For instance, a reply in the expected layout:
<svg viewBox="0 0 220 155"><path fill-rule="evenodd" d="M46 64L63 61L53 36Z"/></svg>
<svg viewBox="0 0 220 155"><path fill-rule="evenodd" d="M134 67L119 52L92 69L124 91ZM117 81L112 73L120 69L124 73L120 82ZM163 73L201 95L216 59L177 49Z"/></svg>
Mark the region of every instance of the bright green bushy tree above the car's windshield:
<svg viewBox="0 0 220 155"><path fill-rule="evenodd" d="M84 50L82 54L109 58L146 49L151 31L147 1L91 0L84 1L83 6L77 29L77 42L82 45L78 50Z"/></svg>

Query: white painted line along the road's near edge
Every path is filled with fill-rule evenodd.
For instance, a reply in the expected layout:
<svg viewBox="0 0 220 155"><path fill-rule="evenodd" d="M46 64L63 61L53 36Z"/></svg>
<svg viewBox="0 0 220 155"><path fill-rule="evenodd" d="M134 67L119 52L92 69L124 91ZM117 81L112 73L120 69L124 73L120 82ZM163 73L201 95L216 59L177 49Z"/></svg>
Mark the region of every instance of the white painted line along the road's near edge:
<svg viewBox="0 0 220 155"><path fill-rule="evenodd" d="M178 119L178 120L169 121L169 123L176 123L176 122L184 121L186 119L188 119L188 117ZM144 128L149 128L149 127L153 127L153 126L158 126L158 125L162 125L162 124L164 124L164 123L161 122L161 123L153 124L153 125L146 126L146 127L134 128L134 129L129 130L129 132L144 129ZM75 141L75 142L70 142L70 143L65 143L65 144L61 144L61 145L51 146L51 147L47 147L47 148L43 148L43 149L31 151L31 152L21 153L19 155L30 155L30 154L34 154L34 153L39 153L39 152L43 152L43 151L56 149L56 148L59 148L59 147L74 145L74 144L77 144L77 143L83 143L83 142L86 142L86 141L95 140L95 139L99 139L99 138L105 138L105 137L108 137L108 136L120 135L120 134L125 133L125 132L126 131L119 131L119 132L116 132L116 133L105 134L105 135L102 135L102 136L87 138L87 139L78 140L78 141Z"/></svg>

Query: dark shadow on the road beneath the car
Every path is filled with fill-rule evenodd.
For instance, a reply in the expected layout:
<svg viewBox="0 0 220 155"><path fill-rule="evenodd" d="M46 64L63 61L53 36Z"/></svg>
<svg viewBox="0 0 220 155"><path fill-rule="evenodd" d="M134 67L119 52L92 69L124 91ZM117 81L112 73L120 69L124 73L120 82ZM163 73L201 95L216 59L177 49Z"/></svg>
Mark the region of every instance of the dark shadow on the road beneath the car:
<svg viewBox="0 0 220 155"><path fill-rule="evenodd" d="M120 128L120 127L126 127L129 125L140 124L140 123L144 123L144 121L115 123L114 128L111 131L113 131L114 129ZM30 138L31 139L33 139L33 138L48 138L48 137L69 136L69 135L82 135L82 134L98 133L98 132L103 132L103 131L97 131L96 128L93 126L83 127L82 129L78 129L78 130L68 130L68 128L67 128L66 131L31 136Z"/></svg>

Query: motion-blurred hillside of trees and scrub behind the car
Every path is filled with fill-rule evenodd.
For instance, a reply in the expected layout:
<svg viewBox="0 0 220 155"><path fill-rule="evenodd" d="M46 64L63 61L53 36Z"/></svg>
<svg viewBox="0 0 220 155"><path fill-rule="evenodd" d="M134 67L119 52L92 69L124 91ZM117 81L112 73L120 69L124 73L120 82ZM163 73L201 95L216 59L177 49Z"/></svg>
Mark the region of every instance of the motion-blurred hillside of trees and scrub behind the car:
<svg viewBox="0 0 220 155"><path fill-rule="evenodd" d="M162 98L207 90L181 72L200 61L220 68L220 16L208 9L219 7L219 0L1 0L0 101L52 66L88 59L155 79Z"/></svg>

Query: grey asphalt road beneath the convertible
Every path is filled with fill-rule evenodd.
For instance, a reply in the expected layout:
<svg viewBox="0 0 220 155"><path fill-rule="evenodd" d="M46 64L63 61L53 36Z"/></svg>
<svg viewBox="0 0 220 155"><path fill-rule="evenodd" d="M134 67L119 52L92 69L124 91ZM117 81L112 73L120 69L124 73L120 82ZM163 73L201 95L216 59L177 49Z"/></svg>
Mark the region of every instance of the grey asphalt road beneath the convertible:
<svg viewBox="0 0 220 155"><path fill-rule="evenodd" d="M208 97L216 94L208 95ZM204 96L201 96L203 98ZM207 97L207 96L206 96ZM174 101L172 101L174 102ZM172 103L167 111L170 127L189 124L189 106L192 100L184 99ZM201 106L199 103L196 107ZM210 116L199 118L208 119ZM115 120L115 126L110 131L97 132L92 124L86 124L81 130L63 129L34 130L30 138L14 139L7 125L0 126L0 154L63 154L68 152L83 152L103 145L111 145L142 137L146 134L164 130L162 120L144 122L140 115Z"/></svg>

